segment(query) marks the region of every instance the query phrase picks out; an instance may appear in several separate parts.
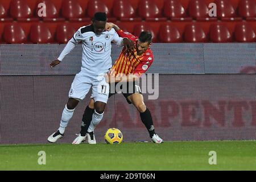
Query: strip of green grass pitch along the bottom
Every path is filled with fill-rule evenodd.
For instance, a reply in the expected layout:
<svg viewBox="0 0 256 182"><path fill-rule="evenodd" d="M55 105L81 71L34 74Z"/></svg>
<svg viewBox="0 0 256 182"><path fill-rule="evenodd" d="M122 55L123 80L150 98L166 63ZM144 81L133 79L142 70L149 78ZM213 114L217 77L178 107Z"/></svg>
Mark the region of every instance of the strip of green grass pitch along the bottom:
<svg viewBox="0 0 256 182"><path fill-rule="evenodd" d="M46 152L46 165L38 152ZM210 165L209 151L217 152ZM256 170L255 141L0 145L0 170Z"/></svg>

